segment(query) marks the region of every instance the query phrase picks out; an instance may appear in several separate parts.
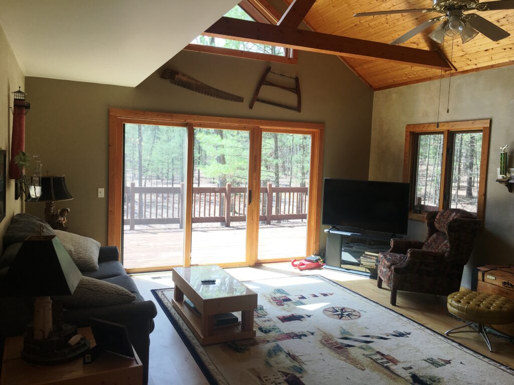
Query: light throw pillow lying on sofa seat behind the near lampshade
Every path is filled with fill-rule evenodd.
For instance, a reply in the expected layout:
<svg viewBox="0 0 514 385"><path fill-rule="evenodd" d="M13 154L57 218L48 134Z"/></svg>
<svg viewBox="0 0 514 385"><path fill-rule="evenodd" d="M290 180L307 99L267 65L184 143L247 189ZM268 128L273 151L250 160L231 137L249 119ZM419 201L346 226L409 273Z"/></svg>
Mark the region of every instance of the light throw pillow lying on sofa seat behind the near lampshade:
<svg viewBox="0 0 514 385"><path fill-rule="evenodd" d="M133 302L136 296L114 283L82 277L73 295L59 299L64 307L102 307Z"/></svg>

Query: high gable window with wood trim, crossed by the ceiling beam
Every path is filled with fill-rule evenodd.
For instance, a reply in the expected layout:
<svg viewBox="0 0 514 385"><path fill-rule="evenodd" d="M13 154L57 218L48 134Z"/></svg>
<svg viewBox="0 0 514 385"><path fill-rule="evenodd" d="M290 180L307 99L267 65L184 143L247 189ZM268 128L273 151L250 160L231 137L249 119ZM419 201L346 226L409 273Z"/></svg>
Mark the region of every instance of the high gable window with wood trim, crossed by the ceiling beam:
<svg viewBox="0 0 514 385"><path fill-rule="evenodd" d="M276 16L270 13L263 15L261 12L262 9L256 8L252 1L244 0L228 11L225 16L259 23L277 23ZM230 40L203 34L197 36L184 49L280 63L296 64L297 62L296 52L293 52L290 48Z"/></svg>

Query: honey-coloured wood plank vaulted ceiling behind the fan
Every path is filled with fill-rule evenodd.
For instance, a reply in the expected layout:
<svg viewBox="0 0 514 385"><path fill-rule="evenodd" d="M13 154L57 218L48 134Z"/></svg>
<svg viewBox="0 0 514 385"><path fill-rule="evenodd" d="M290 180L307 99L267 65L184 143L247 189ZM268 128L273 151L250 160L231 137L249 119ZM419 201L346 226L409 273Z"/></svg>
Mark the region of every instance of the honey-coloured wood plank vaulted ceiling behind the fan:
<svg viewBox="0 0 514 385"><path fill-rule="evenodd" d="M291 0L285 0L290 4ZM438 13L404 13L382 16L353 17L357 12L386 11L393 9L431 8L430 0L317 0L304 18L305 23L317 32L355 37L381 43L390 43L417 25L438 16ZM467 14L475 11L467 12ZM453 41L446 37L443 46L433 42L428 35L437 26L414 36L402 46L434 50L440 48L457 73L467 73L487 68L514 64L514 10L479 12L481 16L505 29L511 35L498 42L479 34L463 44L460 37ZM345 62L373 89L438 79L441 71L414 67L373 59L345 57ZM448 76L448 73L443 73Z"/></svg>

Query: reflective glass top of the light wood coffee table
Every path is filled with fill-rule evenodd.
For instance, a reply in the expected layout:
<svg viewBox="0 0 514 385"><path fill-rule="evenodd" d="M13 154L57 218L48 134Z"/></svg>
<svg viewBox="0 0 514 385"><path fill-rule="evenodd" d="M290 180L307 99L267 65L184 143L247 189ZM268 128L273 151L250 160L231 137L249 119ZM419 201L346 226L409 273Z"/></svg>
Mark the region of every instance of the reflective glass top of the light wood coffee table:
<svg viewBox="0 0 514 385"><path fill-rule="evenodd" d="M174 267L180 275L203 299L225 298L255 294L217 265ZM201 283L204 279L215 279L215 283Z"/></svg>

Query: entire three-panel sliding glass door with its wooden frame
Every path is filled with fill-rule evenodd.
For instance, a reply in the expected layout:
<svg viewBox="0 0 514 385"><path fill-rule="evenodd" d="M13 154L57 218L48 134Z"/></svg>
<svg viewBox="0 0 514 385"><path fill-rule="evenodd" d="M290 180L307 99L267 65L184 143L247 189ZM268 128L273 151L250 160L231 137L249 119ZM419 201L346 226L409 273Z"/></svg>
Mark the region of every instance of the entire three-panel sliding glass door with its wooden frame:
<svg viewBox="0 0 514 385"><path fill-rule="evenodd" d="M318 251L322 128L111 110L108 243L128 272Z"/></svg>

